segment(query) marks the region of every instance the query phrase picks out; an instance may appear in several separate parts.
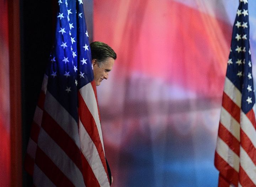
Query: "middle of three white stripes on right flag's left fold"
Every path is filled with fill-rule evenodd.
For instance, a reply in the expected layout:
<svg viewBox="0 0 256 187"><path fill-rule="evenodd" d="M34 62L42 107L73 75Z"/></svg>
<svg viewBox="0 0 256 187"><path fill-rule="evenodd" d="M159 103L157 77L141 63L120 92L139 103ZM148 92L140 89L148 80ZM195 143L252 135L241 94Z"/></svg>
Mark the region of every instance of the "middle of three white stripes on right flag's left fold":
<svg viewBox="0 0 256 187"><path fill-rule="evenodd" d="M240 124L222 107L220 123L240 142Z"/></svg>

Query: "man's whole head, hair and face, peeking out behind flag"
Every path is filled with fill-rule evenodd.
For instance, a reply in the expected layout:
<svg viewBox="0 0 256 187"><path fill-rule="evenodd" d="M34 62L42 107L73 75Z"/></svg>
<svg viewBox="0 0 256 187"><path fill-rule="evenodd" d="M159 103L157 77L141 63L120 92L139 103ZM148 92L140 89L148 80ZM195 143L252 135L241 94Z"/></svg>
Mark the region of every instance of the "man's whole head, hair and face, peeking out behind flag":
<svg viewBox="0 0 256 187"><path fill-rule="evenodd" d="M108 79L108 72L111 71L117 56L114 50L103 42L92 42L90 47L94 80L96 86L99 86L103 79Z"/></svg>

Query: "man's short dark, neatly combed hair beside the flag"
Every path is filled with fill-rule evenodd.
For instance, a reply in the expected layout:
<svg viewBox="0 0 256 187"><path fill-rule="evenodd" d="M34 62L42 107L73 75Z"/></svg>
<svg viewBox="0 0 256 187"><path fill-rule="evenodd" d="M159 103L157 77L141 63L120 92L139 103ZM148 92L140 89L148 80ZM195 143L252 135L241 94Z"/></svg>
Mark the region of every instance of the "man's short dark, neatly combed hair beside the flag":
<svg viewBox="0 0 256 187"><path fill-rule="evenodd" d="M104 61L106 61L108 57L111 57L114 60L116 60L117 58L114 50L103 42L100 42L100 41L91 42L90 47L91 47L92 60L96 59L100 64L102 64L101 62L104 63Z"/></svg>

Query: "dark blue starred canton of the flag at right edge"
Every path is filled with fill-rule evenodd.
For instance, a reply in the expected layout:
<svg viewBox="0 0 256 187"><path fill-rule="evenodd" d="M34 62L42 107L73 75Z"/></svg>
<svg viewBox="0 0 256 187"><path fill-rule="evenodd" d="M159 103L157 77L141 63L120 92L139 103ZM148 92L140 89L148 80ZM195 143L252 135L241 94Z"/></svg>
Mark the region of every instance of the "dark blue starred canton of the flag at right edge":
<svg viewBox="0 0 256 187"><path fill-rule="evenodd" d="M246 114L255 103L247 0L240 0L236 12L226 77L242 93L241 109Z"/></svg>

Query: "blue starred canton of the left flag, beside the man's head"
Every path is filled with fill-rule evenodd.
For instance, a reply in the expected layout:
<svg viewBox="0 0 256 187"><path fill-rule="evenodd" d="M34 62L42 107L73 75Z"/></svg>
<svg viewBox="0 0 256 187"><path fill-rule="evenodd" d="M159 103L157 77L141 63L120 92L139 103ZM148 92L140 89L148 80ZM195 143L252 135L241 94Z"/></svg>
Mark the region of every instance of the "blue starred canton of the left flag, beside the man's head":
<svg viewBox="0 0 256 187"><path fill-rule="evenodd" d="M82 0L58 0L58 4L47 90L78 121L78 90L94 79L89 36Z"/></svg>

